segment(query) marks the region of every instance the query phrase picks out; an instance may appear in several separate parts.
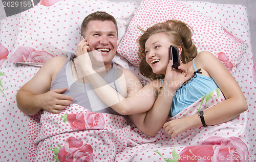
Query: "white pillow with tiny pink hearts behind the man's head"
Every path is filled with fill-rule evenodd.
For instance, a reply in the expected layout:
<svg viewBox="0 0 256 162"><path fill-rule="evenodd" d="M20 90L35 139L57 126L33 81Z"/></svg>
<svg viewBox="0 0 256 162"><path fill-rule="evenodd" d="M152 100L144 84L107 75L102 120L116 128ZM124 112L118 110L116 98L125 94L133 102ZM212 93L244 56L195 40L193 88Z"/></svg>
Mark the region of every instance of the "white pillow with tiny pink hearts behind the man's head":
<svg viewBox="0 0 256 162"><path fill-rule="evenodd" d="M95 11L108 12L116 18L120 41L138 5L138 2L107 0L42 0L19 14L18 35L10 62L41 66L52 57L75 53L81 22Z"/></svg>

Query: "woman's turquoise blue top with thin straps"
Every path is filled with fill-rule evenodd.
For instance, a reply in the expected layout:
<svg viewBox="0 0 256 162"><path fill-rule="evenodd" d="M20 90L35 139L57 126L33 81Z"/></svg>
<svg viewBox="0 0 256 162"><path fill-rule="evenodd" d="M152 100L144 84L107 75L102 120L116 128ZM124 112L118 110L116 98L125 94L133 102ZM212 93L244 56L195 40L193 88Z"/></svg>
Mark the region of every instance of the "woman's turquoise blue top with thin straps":
<svg viewBox="0 0 256 162"><path fill-rule="evenodd" d="M197 71L194 59L193 66L195 68L195 71ZM161 81L163 83L162 79ZM181 110L193 104L198 99L202 98L203 96L207 95L209 92L217 88L218 85L212 78L201 75L199 73L195 73L195 75L187 83L183 84L176 91L169 115L171 117L174 117Z"/></svg>

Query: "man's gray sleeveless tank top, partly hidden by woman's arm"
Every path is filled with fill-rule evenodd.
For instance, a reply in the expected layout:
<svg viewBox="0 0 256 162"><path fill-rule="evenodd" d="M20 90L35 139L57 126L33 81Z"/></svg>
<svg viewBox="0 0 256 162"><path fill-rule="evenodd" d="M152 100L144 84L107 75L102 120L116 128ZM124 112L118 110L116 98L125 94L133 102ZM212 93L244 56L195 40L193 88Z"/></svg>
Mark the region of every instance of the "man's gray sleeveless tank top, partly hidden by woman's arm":
<svg viewBox="0 0 256 162"><path fill-rule="evenodd" d="M105 105L97 96L92 84L84 84L74 80L72 75L72 60L75 54L68 53L67 61L65 65L61 68L58 75L51 84L51 89L65 88L68 90L64 92L64 95L68 95L74 98L73 103L78 104L82 107L87 108L92 112L104 112L120 115L118 112L112 108ZM110 84L114 89L122 95L121 89L117 81L117 67L115 63L112 63L113 67L108 72L108 74L103 77L103 79Z"/></svg>

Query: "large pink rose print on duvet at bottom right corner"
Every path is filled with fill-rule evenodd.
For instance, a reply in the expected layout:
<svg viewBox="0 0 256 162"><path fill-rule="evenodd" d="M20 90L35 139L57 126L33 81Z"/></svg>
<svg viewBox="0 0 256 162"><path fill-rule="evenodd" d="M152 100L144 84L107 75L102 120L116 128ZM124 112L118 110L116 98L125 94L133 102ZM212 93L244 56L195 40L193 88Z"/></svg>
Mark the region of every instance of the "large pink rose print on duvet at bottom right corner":
<svg viewBox="0 0 256 162"><path fill-rule="evenodd" d="M179 154L179 161L248 161L247 146L237 137L207 138L201 146L187 146Z"/></svg>

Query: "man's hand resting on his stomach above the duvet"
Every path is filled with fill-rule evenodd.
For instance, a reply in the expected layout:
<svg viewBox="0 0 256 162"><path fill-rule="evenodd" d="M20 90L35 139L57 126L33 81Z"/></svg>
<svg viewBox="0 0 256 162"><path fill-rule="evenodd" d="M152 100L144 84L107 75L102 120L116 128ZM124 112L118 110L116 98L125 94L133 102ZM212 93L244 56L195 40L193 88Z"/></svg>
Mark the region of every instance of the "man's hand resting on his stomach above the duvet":
<svg viewBox="0 0 256 162"><path fill-rule="evenodd" d="M50 90L45 94L38 95L37 100L41 102L42 109L52 113L60 113L73 102L72 97L62 94L66 90L67 88Z"/></svg>

